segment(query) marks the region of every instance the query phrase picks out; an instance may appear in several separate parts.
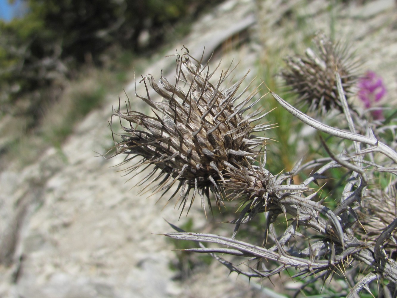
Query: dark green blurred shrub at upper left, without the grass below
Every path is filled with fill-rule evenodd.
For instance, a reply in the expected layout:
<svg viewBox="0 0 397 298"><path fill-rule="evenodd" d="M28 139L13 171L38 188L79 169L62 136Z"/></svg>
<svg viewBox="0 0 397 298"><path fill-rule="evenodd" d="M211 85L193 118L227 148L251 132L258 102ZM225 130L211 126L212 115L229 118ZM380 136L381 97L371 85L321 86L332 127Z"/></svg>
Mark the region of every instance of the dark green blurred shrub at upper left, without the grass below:
<svg viewBox="0 0 397 298"><path fill-rule="evenodd" d="M190 21L216 2L26 0L23 17L0 21L0 117L23 114L27 127L35 126L43 103L54 102L82 64L101 66L110 46L155 50L175 22ZM142 33L144 45L138 43ZM46 88L56 92L43 95Z"/></svg>

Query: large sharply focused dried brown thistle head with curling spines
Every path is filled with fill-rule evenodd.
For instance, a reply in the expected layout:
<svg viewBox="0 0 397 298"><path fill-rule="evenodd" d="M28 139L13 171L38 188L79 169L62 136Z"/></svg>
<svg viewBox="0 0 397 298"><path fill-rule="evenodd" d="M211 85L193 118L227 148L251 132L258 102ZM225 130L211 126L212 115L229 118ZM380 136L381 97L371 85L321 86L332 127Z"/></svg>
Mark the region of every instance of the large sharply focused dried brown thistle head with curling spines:
<svg viewBox="0 0 397 298"><path fill-rule="evenodd" d="M127 168L129 172L142 165L153 166L153 171L141 183L146 184L143 189L167 192L178 182L170 199L177 195L177 201L181 199L182 211L191 190L191 202L198 193L204 210L204 195L211 208L210 191L219 205L225 162L233 160L247 164L249 159L254 159L266 138L252 133L270 128L270 125L253 124L266 115L258 116L260 110L243 115L259 101L251 102L257 89L245 97L242 95L247 88L237 94L247 74L228 89L222 88L228 72L229 69L222 72L213 85L210 79L214 72L210 73L208 66L202 66L188 52L177 55L174 85L161 77L161 88L150 74L141 80L147 94L136 96L152 108L154 116L133 110L121 112L120 109L114 114L130 124L123 126L127 134L121 135L122 141L116 144L115 155L127 154L122 164L135 156L142 157ZM147 83L162 97L161 102L151 99Z"/></svg>

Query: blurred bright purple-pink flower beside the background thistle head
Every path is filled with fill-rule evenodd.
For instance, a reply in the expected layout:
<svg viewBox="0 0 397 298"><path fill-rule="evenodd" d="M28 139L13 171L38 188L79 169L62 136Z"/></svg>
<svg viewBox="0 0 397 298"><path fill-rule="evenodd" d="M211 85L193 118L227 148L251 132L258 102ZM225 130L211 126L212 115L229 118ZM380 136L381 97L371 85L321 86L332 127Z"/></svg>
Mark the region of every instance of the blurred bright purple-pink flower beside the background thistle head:
<svg viewBox="0 0 397 298"><path fill-rule="evenodd" d="M386 94L386 88L383 80L375 72L368 71L365 76L358 81L358 97L364 103L366 108L371 108ZM382 110L372 110L372 116L376 120L384 119Z"/></svg>

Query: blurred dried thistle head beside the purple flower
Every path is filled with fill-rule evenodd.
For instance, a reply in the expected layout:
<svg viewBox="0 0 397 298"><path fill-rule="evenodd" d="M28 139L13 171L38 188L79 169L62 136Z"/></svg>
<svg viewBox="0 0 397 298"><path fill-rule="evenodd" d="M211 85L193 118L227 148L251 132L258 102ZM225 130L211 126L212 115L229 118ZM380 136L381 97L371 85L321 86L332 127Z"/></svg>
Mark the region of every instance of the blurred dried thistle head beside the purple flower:
<svg viewBox="0 0 397 298"><path fill-rule="evenodd" d="M287 67L281 76L300 103L308 104L310 112L325 114L331 109L342 111L338 98L335 71L339 72L346 98L357 82L358 61L349 53L348 47L333 43L323 34L314 38L314 49L306 49L306 55L285 59Z"/></svg>

